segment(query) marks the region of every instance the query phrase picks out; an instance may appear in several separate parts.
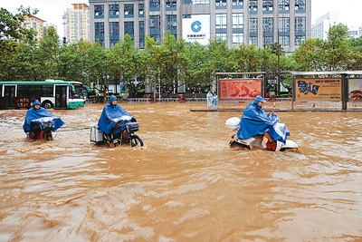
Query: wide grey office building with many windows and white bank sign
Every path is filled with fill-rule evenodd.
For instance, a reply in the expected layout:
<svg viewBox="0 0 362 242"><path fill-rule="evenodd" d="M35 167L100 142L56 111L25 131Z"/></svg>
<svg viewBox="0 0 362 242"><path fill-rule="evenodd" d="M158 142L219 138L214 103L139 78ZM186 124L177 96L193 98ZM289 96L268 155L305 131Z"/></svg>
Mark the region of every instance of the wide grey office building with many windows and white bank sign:
<svg viewBox="0 0 362 242"><path fill-rule="evenodd" d="M186 42L220 37L240 44L277 43L293 52L310 38L311 0L90 0L90 42L112 47L129 34L139 48L167 31ZM278 39L279 38L279 39Z"/></svg>

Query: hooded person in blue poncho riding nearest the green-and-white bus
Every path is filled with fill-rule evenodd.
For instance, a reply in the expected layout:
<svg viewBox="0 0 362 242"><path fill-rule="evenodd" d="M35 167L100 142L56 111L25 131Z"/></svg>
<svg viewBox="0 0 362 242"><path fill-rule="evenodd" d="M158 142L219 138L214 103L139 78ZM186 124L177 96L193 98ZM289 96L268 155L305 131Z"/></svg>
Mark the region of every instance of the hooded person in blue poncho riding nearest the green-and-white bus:
<svg viewBox="0 0 362 242"><path fill-rule="evenodd" d="M42 108L42 104L39 102L39 100L35 100L33 102L32 107L26 112L26 117L23 125L24 132L31 131L32 128L31 122L33 120L48 118L48 117L54 118L53 119L54 129L52 131L58 130L64 124L64 122L60 118L52 114L52 112Z"/></svg>

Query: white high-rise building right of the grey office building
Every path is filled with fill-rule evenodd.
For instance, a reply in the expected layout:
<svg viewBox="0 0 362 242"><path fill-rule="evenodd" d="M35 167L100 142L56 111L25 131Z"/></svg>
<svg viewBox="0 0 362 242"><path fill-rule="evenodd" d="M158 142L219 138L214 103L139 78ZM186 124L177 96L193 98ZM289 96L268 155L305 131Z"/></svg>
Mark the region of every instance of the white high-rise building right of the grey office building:
<svg viewBox="0 0 362 242"><path fill-rule="evenodd" d="M311 26L311 37L327 40L329 28L339 24L338 13L329 12L326 15L319 17L316 24Z"/></svg>

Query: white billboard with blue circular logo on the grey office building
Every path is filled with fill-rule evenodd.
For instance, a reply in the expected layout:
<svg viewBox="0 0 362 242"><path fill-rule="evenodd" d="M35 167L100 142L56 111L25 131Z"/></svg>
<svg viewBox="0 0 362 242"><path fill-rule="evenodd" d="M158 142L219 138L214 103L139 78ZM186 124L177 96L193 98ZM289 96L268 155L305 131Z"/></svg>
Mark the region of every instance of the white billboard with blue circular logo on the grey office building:
<svg viewBox="0 0 362 242"><path fill-rule="evenodd" d="M196 41L203 45L209 44L210 15L188 15L187 18L183 18L182 37L186 43Z"/></svg>

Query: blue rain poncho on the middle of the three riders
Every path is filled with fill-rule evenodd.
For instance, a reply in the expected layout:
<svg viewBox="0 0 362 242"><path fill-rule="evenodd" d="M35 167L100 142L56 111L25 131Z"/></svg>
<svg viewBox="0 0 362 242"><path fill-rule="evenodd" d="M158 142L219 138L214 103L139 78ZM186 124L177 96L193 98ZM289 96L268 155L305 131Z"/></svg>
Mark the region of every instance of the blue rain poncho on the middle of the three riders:
<svg viewBox="0 0 362 242"><path fill-rule="evenodd" d="M97 129L106 134L116 134L126 130L126 125L136 119L125 111L118 104L112 105L112 102L117 100L115 95L110 96L110 104L107 104L100 115Z"/></svg>

